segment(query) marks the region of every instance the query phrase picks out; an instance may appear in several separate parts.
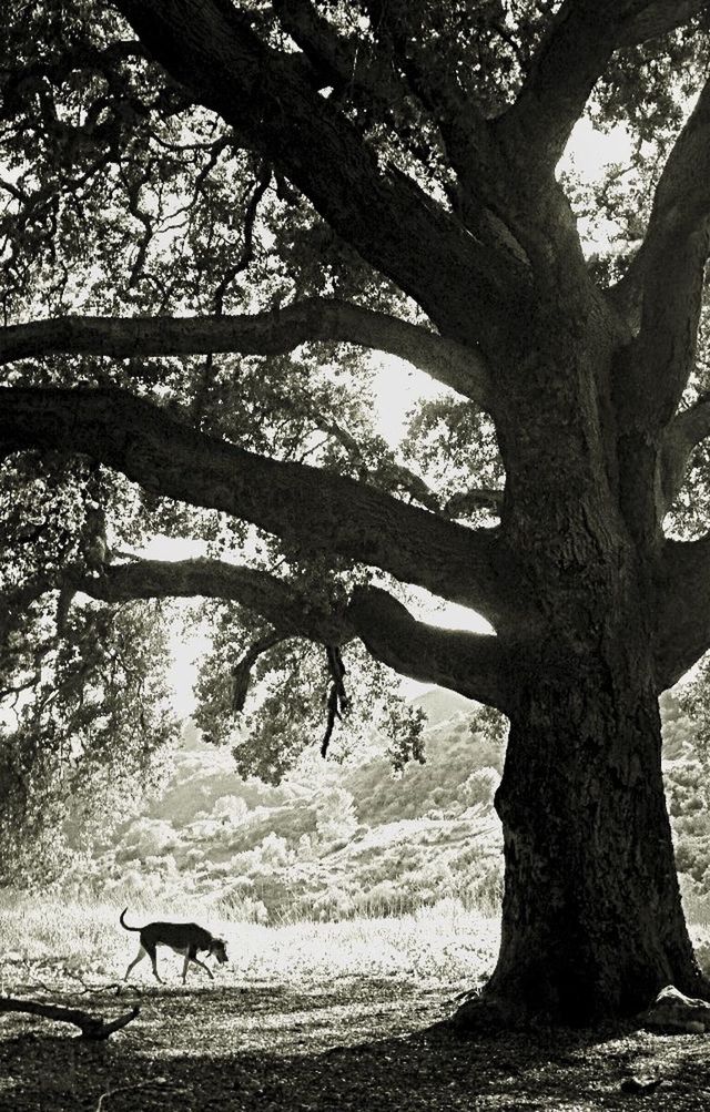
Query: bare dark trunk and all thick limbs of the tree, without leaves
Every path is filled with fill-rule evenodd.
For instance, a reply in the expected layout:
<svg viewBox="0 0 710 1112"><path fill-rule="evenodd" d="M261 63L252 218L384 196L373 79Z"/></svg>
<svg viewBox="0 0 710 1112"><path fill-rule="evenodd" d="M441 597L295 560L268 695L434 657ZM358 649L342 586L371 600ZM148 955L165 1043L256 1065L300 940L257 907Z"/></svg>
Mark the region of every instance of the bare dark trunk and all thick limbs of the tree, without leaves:
<svg viewBox="0 0 710 1112"><path fill-rule="evenodd" d="M413 33L416 6L364 3L374 31L359 93L386 72L396 87L387 95L430 113L456 178L455 206L381 165L337 100L321 95L352 77L341 67L352 63L353 41L315 4L274 6L300 48L284 53L221 0L115 7L189 97L286 175L435 330L315 299L280 318L215 320L211 332L208 320L26 322L0 334L0 356L274 353L308 336L375 344L418 356L492 416L506 478L500 526L474 530L366 484L216 443L126 391L3 391L6 455L70 443L155 493L474 606L496 636L425 627L374 589L337 614L302 619L283 585L267 599L262 573L204 565L181 568L172 589L171 573L154 564L107 568L82 589L108 599L221 594L275 622L278 598L289 634L327 631L331 644L359 636L404 674L505 711L502 945L461 1023L482 1014L595 1022L641 1011L669 982L710 999L683 920L658 712L659 693L710 646L708 539L671 543L662 532L689 454L710 430L702 400L679 415L708 255L710 86L667 161L645 241L612 289L590 277L554 177L614 49L704 6L566 0L514 101L483 119L454 78L428 64L434 54Z"/></svg>

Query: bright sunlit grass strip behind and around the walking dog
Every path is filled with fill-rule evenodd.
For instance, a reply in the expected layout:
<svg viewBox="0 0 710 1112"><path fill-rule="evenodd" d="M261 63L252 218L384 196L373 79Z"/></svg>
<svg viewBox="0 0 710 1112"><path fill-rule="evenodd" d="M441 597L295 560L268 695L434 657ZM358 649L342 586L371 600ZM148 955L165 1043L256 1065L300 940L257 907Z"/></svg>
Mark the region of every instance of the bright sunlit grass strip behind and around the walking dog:
<svg viewBox="0 0 710 1112"><path fill-rule="evenodd" d="M57 898L0 895L0 980L14 980L24 967L48 976L120 980L137 950L137 934L125 932L112 904L79 904ZM186 900L181 906L135 904L131 925L156 919L196 920L227 940L229 964L215 984L239 982L327 982L335 977L393 977L471 986L495 964L500 922L495 916L445 900L401 917L302 921L262 925L218 917L215 907ZM710 970L710 930L691 926L701 965ZM175 982L181 959L159 951L159 966ZM151 981L146 960L131 976ZM207 982L193 972L190 980Z"/></svg>

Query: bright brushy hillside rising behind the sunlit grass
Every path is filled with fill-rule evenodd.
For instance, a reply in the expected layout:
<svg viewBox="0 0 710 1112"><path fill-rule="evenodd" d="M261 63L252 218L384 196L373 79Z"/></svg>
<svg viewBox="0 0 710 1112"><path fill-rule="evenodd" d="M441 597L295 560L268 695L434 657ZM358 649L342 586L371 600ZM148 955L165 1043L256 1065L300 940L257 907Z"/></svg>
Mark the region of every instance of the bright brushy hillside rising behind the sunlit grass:
<svg viewBox="0 0 710 1112"><path fill-rule="evenodd" d="M162 792L77 868L78 894L160 905L198 895L234 913L394 914L460 895L497 906L502 835L493 796L503 743L475 704L432 691L426 763L395 775L385 756L361 765L304 756L278 787L235 772L231 754L189 725ZM692 723L662 699L664 773L686 905L710 912L710 801Z"/></svg>

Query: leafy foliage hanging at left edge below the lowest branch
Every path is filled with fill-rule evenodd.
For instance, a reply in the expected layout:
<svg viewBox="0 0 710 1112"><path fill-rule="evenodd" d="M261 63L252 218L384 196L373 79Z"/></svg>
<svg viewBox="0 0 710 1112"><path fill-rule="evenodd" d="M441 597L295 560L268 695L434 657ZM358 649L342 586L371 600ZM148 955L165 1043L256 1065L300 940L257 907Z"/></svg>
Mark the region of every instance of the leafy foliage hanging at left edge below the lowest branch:
<svg viewBox="0 0 710 1112"><path fill-rule="evenodd" d="M178 724L155 618L155 609L75 606L66 639L33 644L26 633L37 671L0 732L3 882L46 883L159 782Z"/></svg>

